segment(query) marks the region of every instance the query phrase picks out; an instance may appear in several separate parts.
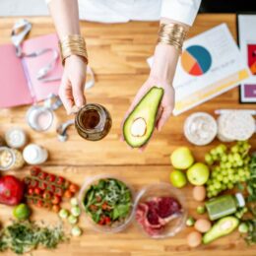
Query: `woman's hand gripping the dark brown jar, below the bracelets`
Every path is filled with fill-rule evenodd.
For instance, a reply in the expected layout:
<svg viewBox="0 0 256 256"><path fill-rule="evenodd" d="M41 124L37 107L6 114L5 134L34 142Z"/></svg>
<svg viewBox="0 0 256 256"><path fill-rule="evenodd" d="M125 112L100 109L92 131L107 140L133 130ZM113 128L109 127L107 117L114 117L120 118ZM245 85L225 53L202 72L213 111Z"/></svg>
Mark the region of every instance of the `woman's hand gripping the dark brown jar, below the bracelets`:
<svg viewBox="0 0 256 256"><path fill-rule="evenodd" d="M71 55L65 60L64 73L59 88L59 96L68 114L72 108L86 103L84 88L87 78L87 65L83 57Z"/></svg>

